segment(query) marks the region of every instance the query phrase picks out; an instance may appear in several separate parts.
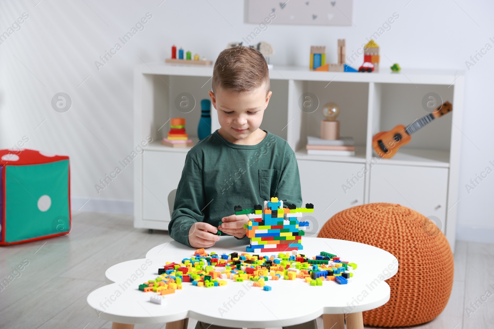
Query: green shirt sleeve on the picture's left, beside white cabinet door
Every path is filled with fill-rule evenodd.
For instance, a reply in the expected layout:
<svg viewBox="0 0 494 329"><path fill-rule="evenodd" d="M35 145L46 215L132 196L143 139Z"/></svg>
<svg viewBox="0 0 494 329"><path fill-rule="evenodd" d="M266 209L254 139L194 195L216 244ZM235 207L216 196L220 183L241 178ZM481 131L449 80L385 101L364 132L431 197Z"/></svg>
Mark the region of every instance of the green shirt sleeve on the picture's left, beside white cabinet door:
<svg viewBox="0 0 494 329"><path fill-rule="evenodd" d="M205 200L203 171L187 153L168 224L168 234L172 239L191 247L189 229L195 222L204 221L201 209L206 206Z"/></svg>

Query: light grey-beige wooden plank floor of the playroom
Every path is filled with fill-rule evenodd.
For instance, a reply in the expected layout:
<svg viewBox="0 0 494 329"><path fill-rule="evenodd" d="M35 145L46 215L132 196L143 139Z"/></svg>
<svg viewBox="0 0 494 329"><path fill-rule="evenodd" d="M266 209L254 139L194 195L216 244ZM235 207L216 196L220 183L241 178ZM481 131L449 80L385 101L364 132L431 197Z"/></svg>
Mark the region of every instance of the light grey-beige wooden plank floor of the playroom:
<svg viewBox="0 0 494 329"><path fill-rule="evenodd" d="M86 296L105 285L106 268L143 258L152 247L166 241L170 241L167 232L149 234L134 229L131 216L81 212L73 214L73 229L66 237L1 247L0 281L23 261L29 265L0 291L0 328L110 329L111 323L88 310ZM456 249L448 306L437 319L414 328L494 328L494 295L482 305L477 302L480 307L470 316L466 313L466 307L487 290L494 293L494 244L457 241ZM433 268L423 276L424 280L441 280L441 273ZM195 324L191 319L189 328ZM321 319L318 325L323 328Z"/></svg>

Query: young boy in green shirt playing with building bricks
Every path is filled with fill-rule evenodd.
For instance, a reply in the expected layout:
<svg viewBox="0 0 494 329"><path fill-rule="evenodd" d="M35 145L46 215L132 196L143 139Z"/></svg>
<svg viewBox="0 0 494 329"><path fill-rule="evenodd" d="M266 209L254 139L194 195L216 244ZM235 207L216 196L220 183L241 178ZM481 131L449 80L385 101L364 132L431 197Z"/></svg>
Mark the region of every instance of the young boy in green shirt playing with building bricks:
<svg viewBox="0 0 494 329"><path fill-rule="evenodd" d="M211 87L221 128L187 153L168 224L173 239L193 248L212 247L218 228L222 235L248 240L247 215L232 215L235 205L262 205L271 197L302 204L295 153L285 140L259 128L272 95L261 53L245 46L223 50ZM208 326L198 322L196 328ZM316 328L315 320L299 326Z"/></svg>

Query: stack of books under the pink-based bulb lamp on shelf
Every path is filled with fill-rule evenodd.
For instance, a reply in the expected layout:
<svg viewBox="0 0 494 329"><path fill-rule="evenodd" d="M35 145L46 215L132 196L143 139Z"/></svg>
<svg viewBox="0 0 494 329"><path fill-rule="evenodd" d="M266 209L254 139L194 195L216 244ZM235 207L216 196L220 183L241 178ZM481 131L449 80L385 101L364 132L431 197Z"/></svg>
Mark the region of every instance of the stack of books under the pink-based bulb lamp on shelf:
<svg viewBox="0 0 494 329"><path fill-rule="evenodd" d="M307 136L307 154L310 155L355 155L355 142L352 137L339 140L324 140Z"/></svg>

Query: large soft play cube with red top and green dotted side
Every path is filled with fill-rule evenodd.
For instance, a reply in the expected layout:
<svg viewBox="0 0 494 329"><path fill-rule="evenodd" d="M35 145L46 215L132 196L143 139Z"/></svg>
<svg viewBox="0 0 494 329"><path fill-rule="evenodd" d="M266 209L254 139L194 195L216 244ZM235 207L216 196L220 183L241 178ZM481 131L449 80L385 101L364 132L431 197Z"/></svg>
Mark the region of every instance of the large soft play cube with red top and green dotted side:
<svg viewBox="0 0 494 329"><path fill-rule="evenodd" d="M0 245L64 236L70 229L69 157L0 150Z"/></svg>

